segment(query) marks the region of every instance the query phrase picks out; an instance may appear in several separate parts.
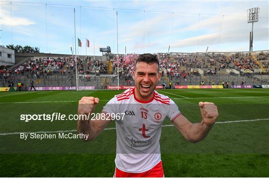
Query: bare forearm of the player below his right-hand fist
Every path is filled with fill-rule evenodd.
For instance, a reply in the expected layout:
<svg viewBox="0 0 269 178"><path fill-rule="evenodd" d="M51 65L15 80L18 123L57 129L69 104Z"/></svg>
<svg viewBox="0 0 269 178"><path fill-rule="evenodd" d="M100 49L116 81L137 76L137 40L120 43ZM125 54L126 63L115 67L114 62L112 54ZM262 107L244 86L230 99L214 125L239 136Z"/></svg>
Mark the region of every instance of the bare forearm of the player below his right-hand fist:
<svg viewBox="0 0 269 178"><path fill-rule="evenodd" d="M213 125L208 126L203 121L200 123L192 123L188 132L187 139L193 143L199 142L207 136L212 127Z"/></svg>

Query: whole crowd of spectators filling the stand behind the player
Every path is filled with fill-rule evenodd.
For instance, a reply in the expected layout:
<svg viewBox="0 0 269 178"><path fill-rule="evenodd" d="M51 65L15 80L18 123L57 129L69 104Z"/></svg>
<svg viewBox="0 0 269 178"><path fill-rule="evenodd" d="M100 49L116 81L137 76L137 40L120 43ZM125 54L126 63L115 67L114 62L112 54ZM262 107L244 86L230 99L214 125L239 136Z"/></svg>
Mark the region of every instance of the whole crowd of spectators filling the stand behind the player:
<svg viewBox="0 0 269 178"><path fill-rule="evenodd" d="M199 74L198 69L202 69L207 74L216 74L221 69L236 68L246 72L257 72L263 68L268 71L269 53L260 53L255 56L250 54L236 53L231 56L214 55L212 57L198 57L196 55L175 55L169 56L165 53L159 53L160 71L162 76L175 78L186 78L192 74ZM134 63L138 58L136 54L119 55L120 77L131 85ZM118 57L113 55L111 58L112 73L117 74ZM78 74L108 74L107 61L99 59L78 59ZM0 79L13 80L16 75L24 75L26 78L39 79L41 75L45 78L53 73L67 75L72 78L75 75L75 60L72 57L57 58L33 58L11 70L0 69Z"/></svg>

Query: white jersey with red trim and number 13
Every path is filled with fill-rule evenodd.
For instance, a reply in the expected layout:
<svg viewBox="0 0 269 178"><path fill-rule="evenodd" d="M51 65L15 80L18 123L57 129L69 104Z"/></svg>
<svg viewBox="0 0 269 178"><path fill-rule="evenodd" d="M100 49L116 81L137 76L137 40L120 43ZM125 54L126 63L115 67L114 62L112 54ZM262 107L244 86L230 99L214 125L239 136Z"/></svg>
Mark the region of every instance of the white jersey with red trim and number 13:
<svg viewBox="0 0 269 178"><path fill-rule="evenodd" d="M134 90L116 95L104 107L103 113L125 114L123 119L116 121L116 167L128 173L142 173L161 161L162 122L166 117L173 121L180 111L167 96L154 91L152 99L143 102L135 97Z"/></svg>

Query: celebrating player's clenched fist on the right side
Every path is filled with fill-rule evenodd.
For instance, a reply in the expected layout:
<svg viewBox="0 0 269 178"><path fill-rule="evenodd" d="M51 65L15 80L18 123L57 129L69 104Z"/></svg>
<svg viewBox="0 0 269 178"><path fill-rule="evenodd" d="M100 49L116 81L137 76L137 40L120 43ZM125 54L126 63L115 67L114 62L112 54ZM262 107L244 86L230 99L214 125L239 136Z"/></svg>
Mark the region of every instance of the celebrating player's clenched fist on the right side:
<svg viewBox="0 0 269 178"><path fill-rule="evenodd" d="M214 103L199 102L199 107L203 122L208 126L213 125L219 116L217 106Z"/></svg>

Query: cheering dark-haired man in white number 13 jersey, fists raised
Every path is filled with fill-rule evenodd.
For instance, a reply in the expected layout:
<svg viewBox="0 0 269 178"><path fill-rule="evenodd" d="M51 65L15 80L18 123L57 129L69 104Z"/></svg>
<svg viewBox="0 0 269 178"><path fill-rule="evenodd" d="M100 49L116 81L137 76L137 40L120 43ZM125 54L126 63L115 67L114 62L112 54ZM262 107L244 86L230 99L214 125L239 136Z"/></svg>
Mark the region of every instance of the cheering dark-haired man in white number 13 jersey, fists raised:
<svg viewBox="0 0 269 178"><path fill-rule="evenodd" d="M159 139L161 125L166 117L181 134L191 142L206 137L218 117L213 103L199 103L202 121L191 123L167 96L155 91L161 74L156 55L143 54L135 61L133 72L135 88L116 95L104 107L103 114L125 113L116 121L117 154L114 177L163 177ZM83 97L79 101L78 114L94 112L98 98ZM111 119L111 117L110 117ZM88 134L88 141L95 139L110 120L78 120L78 132Z"/></svg>

